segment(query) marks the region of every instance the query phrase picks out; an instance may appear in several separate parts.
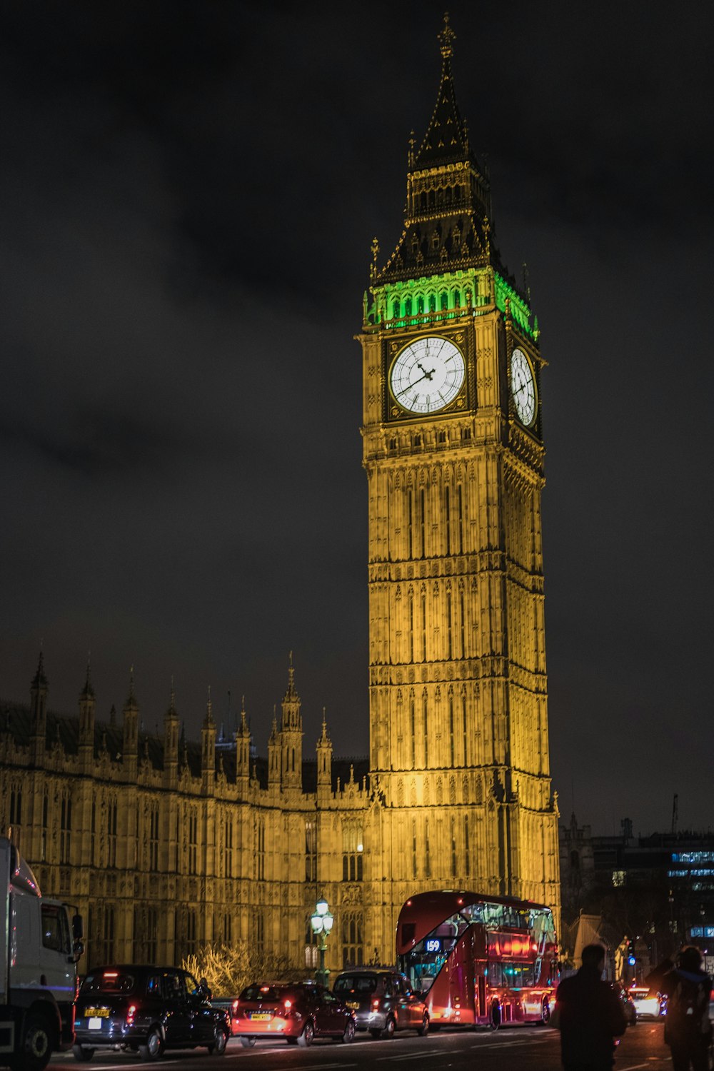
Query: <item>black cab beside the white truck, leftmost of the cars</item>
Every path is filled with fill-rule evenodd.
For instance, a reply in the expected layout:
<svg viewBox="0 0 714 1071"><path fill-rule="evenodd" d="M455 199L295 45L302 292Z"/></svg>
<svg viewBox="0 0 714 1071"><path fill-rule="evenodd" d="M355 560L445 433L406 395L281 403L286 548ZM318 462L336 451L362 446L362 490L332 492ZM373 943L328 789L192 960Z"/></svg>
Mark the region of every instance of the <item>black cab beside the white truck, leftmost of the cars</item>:
<svg viewBox="0 0 714 1071"><path fill-rule="evenodd" d="M97 967L79 990L73 1051L78 1060L97 1049L138 1052L142 1060L198 1045L223 1055L229 1035L226 1013L180 967Z"/></svg>

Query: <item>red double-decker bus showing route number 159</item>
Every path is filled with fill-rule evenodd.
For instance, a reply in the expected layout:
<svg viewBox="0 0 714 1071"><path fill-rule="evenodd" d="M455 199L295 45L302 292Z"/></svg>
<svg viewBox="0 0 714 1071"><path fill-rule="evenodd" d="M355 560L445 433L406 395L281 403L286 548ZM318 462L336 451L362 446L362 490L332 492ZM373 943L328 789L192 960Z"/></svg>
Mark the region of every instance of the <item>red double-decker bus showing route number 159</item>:
<svg viewBox="0 0 714 1071"><path fill-rule="evenodd" d="M399 912L397 963L439 1026L547 1023L559 981L552 911L477 892L420 892Z"/></svg>

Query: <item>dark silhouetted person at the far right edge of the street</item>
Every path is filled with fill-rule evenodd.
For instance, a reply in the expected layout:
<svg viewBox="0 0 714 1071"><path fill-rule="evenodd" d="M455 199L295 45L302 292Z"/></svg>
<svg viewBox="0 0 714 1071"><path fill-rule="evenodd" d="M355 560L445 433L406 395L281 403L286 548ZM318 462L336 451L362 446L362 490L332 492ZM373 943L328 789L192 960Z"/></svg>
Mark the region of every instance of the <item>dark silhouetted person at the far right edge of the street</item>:
<svg viewBox="0 0 714 1071"><path fill-rule="evenodd" d="M667 994L665 1043L672 1056L672 1071L709 1071L712 1024L709 1001L712 979L701 969L701 952L683 948L678 965L662 980Z"/></svg>

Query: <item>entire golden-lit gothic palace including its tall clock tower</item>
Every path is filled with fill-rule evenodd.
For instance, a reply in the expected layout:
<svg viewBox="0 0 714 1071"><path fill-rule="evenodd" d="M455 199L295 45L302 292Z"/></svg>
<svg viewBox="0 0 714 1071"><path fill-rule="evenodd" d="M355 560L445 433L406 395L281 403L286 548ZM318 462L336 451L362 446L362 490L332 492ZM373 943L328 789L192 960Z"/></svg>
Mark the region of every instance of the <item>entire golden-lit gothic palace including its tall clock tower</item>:
<svg viewBox="0 0 714 1071"><path fill-rule="evenodd" d="M396 918L439 888L514 895L559 916L548 760L537 320L493 242L487 177L456 104L454 34L404 229L365 296L369 759L303 748L292 662L267 758L245 711L209 702L185 741L171 694L141 729L131 681L95 716L54 714L40 659L30 705L0 706L0 829L43 892L86 920L82 966L179 962L246 939L315 965L309 915L334 914L328 965L394 959Z"/></svg>

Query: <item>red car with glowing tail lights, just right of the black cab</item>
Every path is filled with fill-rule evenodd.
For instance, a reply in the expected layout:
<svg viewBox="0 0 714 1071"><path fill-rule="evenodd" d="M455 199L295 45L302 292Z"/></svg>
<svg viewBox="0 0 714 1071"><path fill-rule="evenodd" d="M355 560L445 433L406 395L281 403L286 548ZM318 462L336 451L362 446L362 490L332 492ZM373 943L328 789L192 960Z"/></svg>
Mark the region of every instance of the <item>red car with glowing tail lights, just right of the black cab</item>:
<svg viewBox="0 0 714 1071"><path fill-rule="evenodd" d="M315 1038L354 1039L354 1014L341 1000L308 982L263 982L247 985L233 1001L233 1035L244 1045L258 1038L285 1038L310 1045Z"/></svg>

